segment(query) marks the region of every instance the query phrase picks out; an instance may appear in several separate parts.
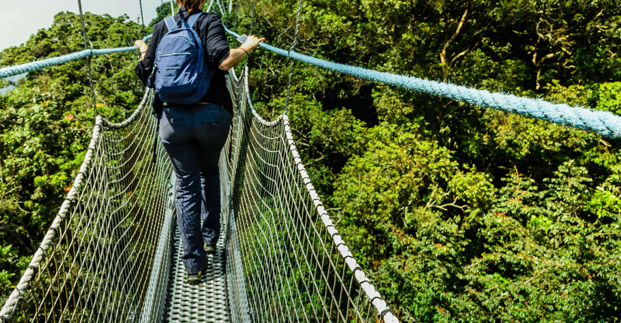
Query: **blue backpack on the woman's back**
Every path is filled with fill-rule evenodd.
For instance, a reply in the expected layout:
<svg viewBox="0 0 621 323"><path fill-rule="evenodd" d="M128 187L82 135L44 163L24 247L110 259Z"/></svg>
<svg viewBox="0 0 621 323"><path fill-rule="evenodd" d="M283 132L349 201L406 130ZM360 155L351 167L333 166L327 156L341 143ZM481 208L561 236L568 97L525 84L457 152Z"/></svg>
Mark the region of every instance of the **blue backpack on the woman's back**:
<svg viewBox="0 0 621 323"><path fill-rule="evenodd" d="M163 102L193 104L209 90L214 73L207 68L201 39L192 29L201 14L193 14L188 22L164 18L168 32L155 51L155 89Z"/></svg>

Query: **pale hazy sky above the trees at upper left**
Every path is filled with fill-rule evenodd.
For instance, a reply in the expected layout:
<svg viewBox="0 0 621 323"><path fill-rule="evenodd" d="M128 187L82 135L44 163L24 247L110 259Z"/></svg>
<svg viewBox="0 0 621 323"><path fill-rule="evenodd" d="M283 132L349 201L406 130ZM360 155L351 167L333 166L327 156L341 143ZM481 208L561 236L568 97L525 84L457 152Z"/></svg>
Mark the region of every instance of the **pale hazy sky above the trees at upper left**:
<svg viewBox="0 0 621 323"><path fill-rule="evenodd" d="M155 18L155 8L163 0L142 0L145 21ZM0 50L24 43L30 35L52 25L60 11L79 12L78 0L0 0ZM127 14L138 21L138 0L82 0L82 10L118 17Z"/></svg>

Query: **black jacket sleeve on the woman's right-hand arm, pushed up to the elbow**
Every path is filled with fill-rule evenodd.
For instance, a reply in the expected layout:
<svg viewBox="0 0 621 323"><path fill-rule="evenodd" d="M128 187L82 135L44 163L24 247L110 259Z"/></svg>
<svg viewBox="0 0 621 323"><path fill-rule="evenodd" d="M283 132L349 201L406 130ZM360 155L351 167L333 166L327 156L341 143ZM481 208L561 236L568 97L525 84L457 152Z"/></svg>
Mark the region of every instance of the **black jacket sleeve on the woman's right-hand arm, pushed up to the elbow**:
<svg viewBox="0 0 621 323"><path fill-rule="evenodd" d="M204 46L207 55L207 65L213 70L218 68L222 61L229 57L230 49L220 16L209 14L208 19L205 20L207 25L205 27L206 39Z"/></svg>

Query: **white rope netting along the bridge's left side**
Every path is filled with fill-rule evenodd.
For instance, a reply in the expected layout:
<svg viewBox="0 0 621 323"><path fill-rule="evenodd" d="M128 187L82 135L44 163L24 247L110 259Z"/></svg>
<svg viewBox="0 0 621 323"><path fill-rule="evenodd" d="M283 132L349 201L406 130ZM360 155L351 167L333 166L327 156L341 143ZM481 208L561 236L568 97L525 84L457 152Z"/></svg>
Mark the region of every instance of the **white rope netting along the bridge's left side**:
<svg viewBox="0 0 621 323"><path fill-rule="evenodd" d="M0 322L154 321L170 263L171 166L153 163L153 91L120 124L96 117L73 186Z"/></svg>

